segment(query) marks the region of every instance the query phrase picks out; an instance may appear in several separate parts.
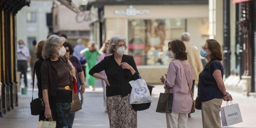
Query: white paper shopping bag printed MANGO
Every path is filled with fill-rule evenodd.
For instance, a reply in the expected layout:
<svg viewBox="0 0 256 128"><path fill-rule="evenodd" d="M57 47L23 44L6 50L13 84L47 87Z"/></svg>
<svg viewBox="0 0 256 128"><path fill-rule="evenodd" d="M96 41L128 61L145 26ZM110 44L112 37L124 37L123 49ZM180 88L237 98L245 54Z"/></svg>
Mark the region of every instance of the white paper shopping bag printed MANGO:
<svg viewBox="0 0 256 128"><path fill-rule="evenodd" d="M238 104L220 108L222 126L230 126L243 122Z"/></svg>

